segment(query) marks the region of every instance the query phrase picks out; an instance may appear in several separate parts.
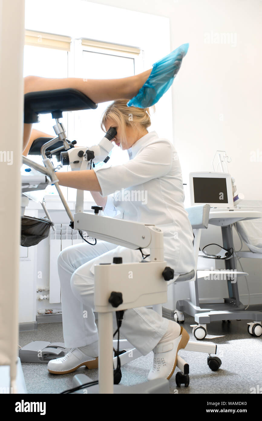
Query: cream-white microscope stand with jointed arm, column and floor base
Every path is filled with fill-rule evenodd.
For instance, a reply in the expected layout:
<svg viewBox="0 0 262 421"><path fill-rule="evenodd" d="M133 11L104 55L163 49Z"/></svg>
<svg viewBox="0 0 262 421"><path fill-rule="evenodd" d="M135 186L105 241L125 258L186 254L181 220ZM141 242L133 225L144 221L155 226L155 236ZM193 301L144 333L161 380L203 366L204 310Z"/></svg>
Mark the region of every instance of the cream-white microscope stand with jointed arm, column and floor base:
<svg viewBox="0 0 262 421"><path fill-rule="evenodd" d="M150 262L95 265L95 311L99 325L99 386L87 393L169 393L169 382L159 379L137 386L114 386L112 370L113 313L167 301L167 272L164 261L163 232L153 225L124 221L79 212L74 215L74 228L86 230L92 237L128 248L150 248ZM92 227L91 230L89 227ZM121 259L122 260L122 259ZM121 262L119 259L119 261ZM132 278L130 279L130 274ZM170 279L170 278L169 278ZM131 284L130 284L131 282ZM120 303L120 304L119 304ZM76 385L88 378L74 376ZM91 380L90 380L91 381ZM131 391L131 392L130 392Z"/></svg>

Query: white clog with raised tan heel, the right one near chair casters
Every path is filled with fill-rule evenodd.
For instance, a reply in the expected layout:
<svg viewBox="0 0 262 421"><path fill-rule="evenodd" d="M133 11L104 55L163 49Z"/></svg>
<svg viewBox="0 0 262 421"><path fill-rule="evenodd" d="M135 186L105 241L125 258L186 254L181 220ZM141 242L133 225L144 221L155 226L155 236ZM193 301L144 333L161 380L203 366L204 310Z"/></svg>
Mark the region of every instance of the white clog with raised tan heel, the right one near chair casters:
<svg viewBox="0 0 262 421"><path fill-rule="evenodd" d="M177 352L185 348L188 341L189 335L187 331L181 328L180 336L172 341L157 344L153 349L153 366L149 371L147 379L167 378L169 380L177 365Z"/></svg>

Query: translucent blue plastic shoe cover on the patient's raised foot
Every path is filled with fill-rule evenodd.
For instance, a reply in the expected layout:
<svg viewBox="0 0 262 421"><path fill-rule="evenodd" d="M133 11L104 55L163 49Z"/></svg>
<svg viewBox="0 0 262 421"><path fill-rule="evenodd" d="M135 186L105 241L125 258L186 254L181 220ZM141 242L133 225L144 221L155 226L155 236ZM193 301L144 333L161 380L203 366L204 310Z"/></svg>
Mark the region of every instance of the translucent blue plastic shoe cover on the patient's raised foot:
<svg viewBox="0 0 262 421"><path fill-rule="evenodd" d="M127 102L127 107L148 108L156 104L172 85L188 47L189 44L180 45L172 53L154 63L148 80L138 94Z"/></svg>

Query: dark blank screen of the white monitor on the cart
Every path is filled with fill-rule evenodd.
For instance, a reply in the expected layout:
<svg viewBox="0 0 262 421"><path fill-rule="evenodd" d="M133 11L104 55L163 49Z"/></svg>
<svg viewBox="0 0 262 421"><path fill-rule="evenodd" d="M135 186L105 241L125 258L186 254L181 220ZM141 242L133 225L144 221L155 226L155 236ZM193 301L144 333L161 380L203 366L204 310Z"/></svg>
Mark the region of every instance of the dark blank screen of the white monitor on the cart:
<svg viewBox="0 0 262 421"><path fill-rule="evenodd" d="M228 203L226 179L193 177L193 187L195 203Z"/></svg>

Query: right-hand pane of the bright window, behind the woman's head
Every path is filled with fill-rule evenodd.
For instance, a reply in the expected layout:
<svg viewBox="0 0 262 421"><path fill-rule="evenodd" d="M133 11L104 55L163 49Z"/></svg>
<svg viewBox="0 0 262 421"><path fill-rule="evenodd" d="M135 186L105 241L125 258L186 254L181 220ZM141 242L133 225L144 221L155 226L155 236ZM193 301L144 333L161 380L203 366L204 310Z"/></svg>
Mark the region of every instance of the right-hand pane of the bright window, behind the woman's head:
<svg viewBox="0 0 262 421"><path fill-rule="evenodd" d="M77 48L76 48L77 50ZM81 40L79 54L82 60L79 65L79 76L83 79L117 79L135 75L141 66L141 54L137 48L125 47L90 40ZM138 68L138 69L137 69ZM98 144L103 138L101 117L111 102L98 104L95 110L75 112L75 139L79 146ZM127 151L114 147L107 165L119 165L129 160ZM96 166L105 165L98 163ZM69 200L75 200L75 190L69 189ZM93 201L90 192L85 192L84 200Z"/></svg>

